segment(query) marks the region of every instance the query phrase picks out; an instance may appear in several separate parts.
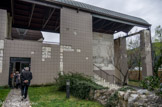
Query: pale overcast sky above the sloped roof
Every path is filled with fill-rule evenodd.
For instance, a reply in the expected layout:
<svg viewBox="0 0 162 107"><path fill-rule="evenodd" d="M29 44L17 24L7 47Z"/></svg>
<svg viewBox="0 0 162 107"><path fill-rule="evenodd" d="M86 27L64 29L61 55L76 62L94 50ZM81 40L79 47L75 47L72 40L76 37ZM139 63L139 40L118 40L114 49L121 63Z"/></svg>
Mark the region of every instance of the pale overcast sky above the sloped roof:
<svg viewBox="0 0 162 107"><path fill-rule="evenodd" d="M162 26L162 0L76 0L76 1L84 2L90 5L143 18L152 25L151 29L152 36L154 35L155 27L158 25ZM134 29L132 30L132 32L134 31Z"/></svg>

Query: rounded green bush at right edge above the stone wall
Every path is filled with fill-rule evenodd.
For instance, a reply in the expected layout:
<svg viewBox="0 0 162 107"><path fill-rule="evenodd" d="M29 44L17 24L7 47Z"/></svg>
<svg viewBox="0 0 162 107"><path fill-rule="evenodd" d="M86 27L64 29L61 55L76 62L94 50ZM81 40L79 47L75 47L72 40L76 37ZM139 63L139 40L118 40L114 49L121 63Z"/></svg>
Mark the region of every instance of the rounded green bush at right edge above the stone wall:
<svg viewBox="0 0 162 107"><path fill-rule="evenodd" d="M158 88L159 84L160 84L160 79L156 76L148 76L140 82L140 86L142 88L148 89L150 91Z"/></svg>

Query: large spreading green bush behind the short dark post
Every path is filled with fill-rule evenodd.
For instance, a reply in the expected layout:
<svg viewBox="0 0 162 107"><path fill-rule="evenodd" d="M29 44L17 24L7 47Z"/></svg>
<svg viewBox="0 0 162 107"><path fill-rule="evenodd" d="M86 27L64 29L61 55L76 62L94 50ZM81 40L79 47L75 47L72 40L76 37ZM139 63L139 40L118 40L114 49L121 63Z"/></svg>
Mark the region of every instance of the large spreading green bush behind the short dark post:
<svg viewBox="0 0 162 107"><path fill-rule="evenodd" d="M79 73L68 73L59 75L56 84L60 91L66 91L66 81L70 81L70 93L81 99L90 99L91 90L99 90L104 87L96 84L89 76Z"/></svg>

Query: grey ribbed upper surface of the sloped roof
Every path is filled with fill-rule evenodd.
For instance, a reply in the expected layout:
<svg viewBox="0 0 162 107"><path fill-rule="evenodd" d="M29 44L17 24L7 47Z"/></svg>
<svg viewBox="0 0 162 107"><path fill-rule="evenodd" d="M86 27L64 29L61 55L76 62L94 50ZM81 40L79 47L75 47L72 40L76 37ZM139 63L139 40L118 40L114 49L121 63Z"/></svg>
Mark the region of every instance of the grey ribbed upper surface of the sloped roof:
<svg viewBox="0 0 162 107"><path fill-rule="evenodd" d="M81 2L78 2L78 1L74 1L74 0L45 0L45 1L60 4L62 6L76 8L76 9L79 9L79 10L84 10L84 11L94 13L94 14L97 14L97 15L103 15L103 16L107 16L107 17L110 17L110 18L115 18L115 19L118 19L118 20L121 20L121 21L131 22L131 23L136 24L137 26L138 25L142 26L142 27L150 27L151 26L144 19L134 17L134 16L130 16L130 15L126 15L126 14L122 14L122 13L119 13L119 12L114 12L114 11L111 11L111 10L92 6L92 5L89 5L89 4L86 4L86 3L81 3Z"/></svg>

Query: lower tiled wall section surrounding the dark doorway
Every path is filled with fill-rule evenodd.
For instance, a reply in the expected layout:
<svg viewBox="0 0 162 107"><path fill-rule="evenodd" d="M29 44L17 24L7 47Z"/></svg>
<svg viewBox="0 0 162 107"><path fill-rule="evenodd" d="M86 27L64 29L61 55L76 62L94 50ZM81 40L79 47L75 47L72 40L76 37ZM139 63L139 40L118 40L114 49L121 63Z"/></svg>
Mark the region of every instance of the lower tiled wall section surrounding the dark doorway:
<svg viewBox="0 0 162 107"><path fill-rule="evenodd" d="M51 58L42 61L42 47L51 47ZM5 40L3 72L0 74L0 85L8 84L10 57L31 58L31 84L54 82L59 71L59 45L42 44L22 40ZM31 54L34 52L34 54Z"/></svg>

